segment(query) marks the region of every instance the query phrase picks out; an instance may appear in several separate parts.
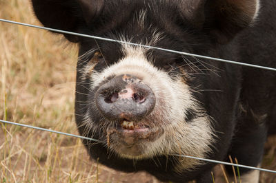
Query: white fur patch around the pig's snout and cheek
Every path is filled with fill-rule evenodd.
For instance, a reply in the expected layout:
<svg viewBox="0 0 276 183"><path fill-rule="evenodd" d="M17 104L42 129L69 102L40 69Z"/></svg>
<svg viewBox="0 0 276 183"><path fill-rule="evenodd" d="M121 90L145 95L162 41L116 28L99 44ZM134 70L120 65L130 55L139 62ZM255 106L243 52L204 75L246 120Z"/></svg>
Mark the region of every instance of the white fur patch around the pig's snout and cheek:
<svg viewBox="0 0 276 183"><path fill-rule="evenodd" d="M143 80L143 83L152 89L156 97L155 108L144 120L150 126L161 127L164 129L164 133L157 140L142 144L141 148L144 149L144 154L139 156L121 152L118 144L110 143L110 150L122 158L130 159L153 158L155 155L170 154L206 158L206 155L210 153L210 146L215 141L215 136L210 118L199 107L199 103L191 95L188 85L180 76L176 80L172 80L166 72L152 65L146 58L145 48L122 45L122 50L124 58L106 67L102 72L92 72L90 75L91 89L97 87L108 76L130 74ZM188 110L194 111L195 118L186 122ZM87 116L85 123L89 124L88 130L104 130L104 127L94 125L89 115ZM178 160L178 164L175 171L195 169L197 165L201 164L199 160L188 158L176 158L176 160Z"/></svg>

